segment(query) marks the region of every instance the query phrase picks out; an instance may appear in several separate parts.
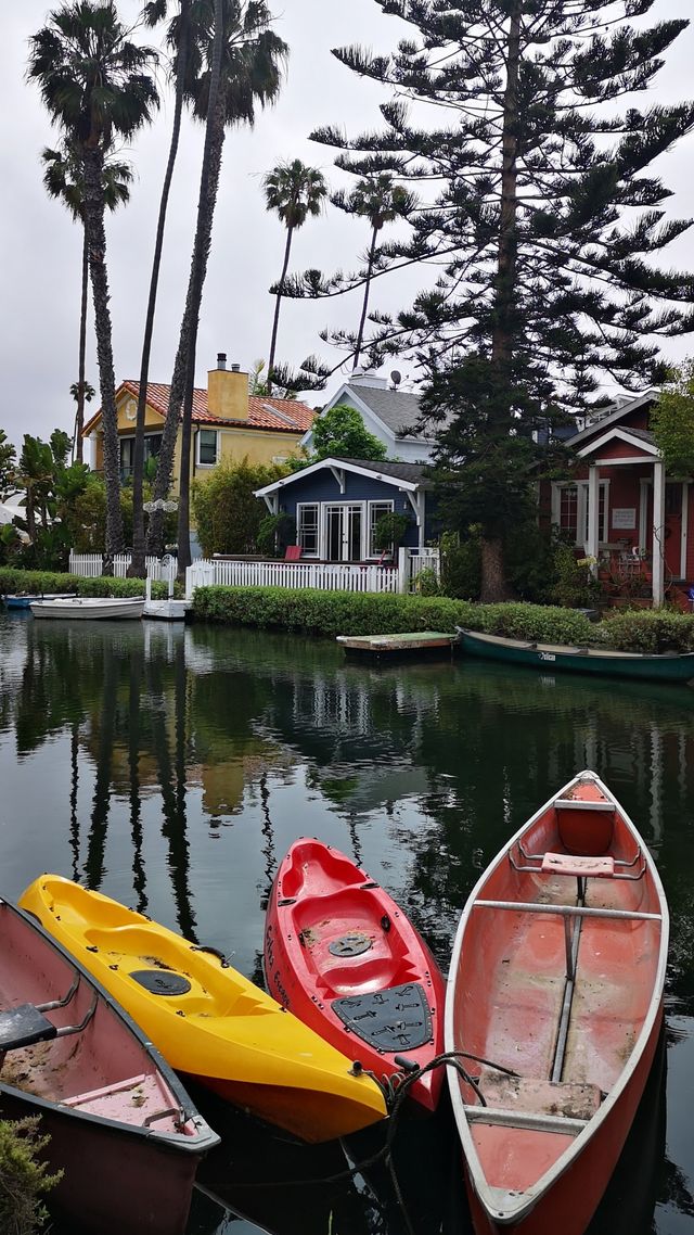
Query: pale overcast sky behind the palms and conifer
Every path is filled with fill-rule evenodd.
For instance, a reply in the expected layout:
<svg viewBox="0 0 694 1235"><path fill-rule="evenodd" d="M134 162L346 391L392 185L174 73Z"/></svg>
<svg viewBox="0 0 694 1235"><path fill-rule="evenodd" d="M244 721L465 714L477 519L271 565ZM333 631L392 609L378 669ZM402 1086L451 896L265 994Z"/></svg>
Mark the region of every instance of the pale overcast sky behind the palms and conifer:
<svg viewBox="0 0 694 1235"><path fill-rule="evenodd" d="M693 0L657 0L650 15L687 17ZM135 21L140 0L120 0L123 21ZM342 124L352 135L379 126L383 88L358 78L330 53L331 47L359 42L389 52L408 27L385 17L374 0L282 0L270 9L275 28L290 47L282 95L273 109L259 112L253 130L228 132L215 215L212 252L205 284L198 342L196 385L206 384L217 352L228 362L249 368L267 357L273 300L268 288L279 277L285 233L277 216L267 214L261 179L279 161L300 158L320 167L332 186L349 177L332 167L327 147L307 141L311 128ZM44 23L51 6L44 0L2 5L0 19L1 175L0 196L2 275L0 303L1 403L0 427L21 443L22 433L47 437L54 427L72 429L74 404L69 387L78 377L78 325L82 237L67 211L51 201L42 185L40 154L58 144L36 85L25 80L27 40ZM159 32L153 32L156 42ZM137 37L137 36L136 36ZM674 103L692 96L694 28L680 35L667 54L651 99ZM168 152L173 103L162 78L163 106L152 128L136 138L128 152L136 180L131 203L107 220L109 275L116 382L137 378L142 329L161 185ZM643 105L643 96L641 96ZM154 342L149 367L153 382L170 382L182 309L188 285L191 240L201 158L200 126L184 121L182 147L169 205ZM656 167L674 190L668 214L694 216L694 135L664 156ZM309 266L332 272L358 266L367 242L361 220L328 207L296 233L291 267ZM679 267L694 267L694 228L668 251ZM380 280L373 308L404 308L426 274L393 275ZM298 364L317 353L332 367L340 353L326 347L317 332L331 324L354 329L359 294L317 304L285 301L282 310L278 359ZM98 388L96 358L89 332L86 375ZM668 354L694 353L692 336L667 343ZM388 373L391 362L384 369ZM404 377L416 377L399 361ZM347 375L347 371L345 372ZM325 393L309 396L322 403L338 385L336 375ZM96 403L90 410L95 410Z"/></svg>

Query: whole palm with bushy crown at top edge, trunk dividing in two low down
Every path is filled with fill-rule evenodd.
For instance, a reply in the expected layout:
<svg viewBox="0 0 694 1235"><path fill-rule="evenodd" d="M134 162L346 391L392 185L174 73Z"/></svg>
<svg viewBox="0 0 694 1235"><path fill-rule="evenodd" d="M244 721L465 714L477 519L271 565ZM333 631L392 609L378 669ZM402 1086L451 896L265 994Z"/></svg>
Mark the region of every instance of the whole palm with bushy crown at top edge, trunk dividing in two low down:
<svg viewBox="0 0 694 1235"><path fill-rule="evenodd" d="M227 127L236 124L253 125L256 107L274 103L279 94L280 63L286 57L288 47L268 28L272 20L264 0L193 0L191 4L185 96L193 106L194 116L205 121L205 148L190 278L154 482L154 500L163 501L172 482L183 405L178 510L179 573L190 562L190 440L195 351L224 141ZM173 48L178 46L177 26L178 21L174 19L168 36ZM149 552L161 553L162 542L163 511L154 510L149 520Z"/></svg>

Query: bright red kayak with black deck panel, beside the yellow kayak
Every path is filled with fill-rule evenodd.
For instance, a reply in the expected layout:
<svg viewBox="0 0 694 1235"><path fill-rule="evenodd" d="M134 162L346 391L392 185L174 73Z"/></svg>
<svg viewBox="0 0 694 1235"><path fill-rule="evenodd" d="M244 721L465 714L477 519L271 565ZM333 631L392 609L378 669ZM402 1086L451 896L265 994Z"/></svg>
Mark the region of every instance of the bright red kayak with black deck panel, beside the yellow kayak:
<svg viewBox="0 0 694 1235"><path fill-rule="evenodd" d="M424 1067L443 1049L436 961L388 893L328 845L295 841L282 862L264 965L270 994L387 1088L403 1077L401 1057ZM433 1110L442 1073L417 1077L409 1097Z"/></svg>

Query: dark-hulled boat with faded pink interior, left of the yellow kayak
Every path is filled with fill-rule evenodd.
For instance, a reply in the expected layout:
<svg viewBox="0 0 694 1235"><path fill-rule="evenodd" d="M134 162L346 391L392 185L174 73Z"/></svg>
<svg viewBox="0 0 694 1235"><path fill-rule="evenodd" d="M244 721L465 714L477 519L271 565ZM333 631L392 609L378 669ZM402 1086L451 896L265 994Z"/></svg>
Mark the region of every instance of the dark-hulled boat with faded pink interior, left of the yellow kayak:
<svg viewBox="0 0 694 1235"><path fill-rule="evenodd" d="M219 1136L136 1025L36 923L0 900L0 1116L40 1115L70 1231L180 1235Z"/></svg>

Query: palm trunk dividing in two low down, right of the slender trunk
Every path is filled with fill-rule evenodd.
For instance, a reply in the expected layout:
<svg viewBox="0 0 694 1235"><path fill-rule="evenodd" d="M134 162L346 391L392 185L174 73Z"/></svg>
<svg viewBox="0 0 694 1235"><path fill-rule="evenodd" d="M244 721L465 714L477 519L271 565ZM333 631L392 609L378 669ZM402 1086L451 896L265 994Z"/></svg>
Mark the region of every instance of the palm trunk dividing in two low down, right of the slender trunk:
<svg viewBox="0 0 694 1235"><path fill-rule="evenodd" d="M225 100L220 93L222 64L224 11L222 0L215 0L215 41L212 63L210 65L210 94L205 125L205 148L203 170L200 173L200 193L198 198L198 224L193 246L193 261L185 310L180 327L178 353L174 364L169 408L164 422L164 436L159 453L159 466L154 487L156 498L165 498L173 472L173 457L178 436L180 405L183 404L183 424L180 435L180 482L178 499L178 573L185 573L190 566L190 442L193 437L193 389L195 383L195 352L198 346L198 326L203 287L207 273L207 258L212 238L212 221L217 199L221 169L221 156L225 138ZM164 447L167 454L164 457ZM163 541L163 511L154 511L149 522L148 545L151 552L158 552Z"/></svg>

